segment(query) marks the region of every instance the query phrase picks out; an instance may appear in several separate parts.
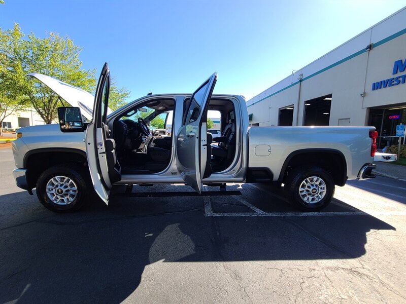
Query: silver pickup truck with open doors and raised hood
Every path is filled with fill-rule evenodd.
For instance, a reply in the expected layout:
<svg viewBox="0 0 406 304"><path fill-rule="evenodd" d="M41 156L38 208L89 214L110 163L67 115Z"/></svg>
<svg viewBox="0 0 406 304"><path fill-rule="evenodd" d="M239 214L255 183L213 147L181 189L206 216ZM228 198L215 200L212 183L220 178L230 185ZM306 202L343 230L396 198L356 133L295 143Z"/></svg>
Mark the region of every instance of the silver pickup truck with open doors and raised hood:
<svg viewBox="0 0 406 304"><path fill-rule="evenodd" d="M107 64L95 97L31 75L72 105L58 109L59 125L21 128L13 141L17 185L52 211L77 210L94 192L108 204L114 185L186 183L200 194L202 183L228 182L284 184L292 203L316 211L335 185L375 177L374 127L251 127L242 96L212 94L216 73L193 94L147 95L114 112ZM207 132L208 110L221 113L219 137ZM148 125L162 113L171 136L154 138Z"/></svg>

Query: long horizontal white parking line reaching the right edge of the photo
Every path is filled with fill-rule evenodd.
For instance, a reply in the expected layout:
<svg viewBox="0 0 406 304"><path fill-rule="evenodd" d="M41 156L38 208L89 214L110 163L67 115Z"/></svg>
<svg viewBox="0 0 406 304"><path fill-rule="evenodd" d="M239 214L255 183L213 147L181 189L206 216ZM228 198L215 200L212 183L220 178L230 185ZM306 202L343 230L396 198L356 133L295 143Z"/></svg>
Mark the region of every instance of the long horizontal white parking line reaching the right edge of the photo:
<svg viewBox="0 0 406 304"><path fill-rule="evenodd" d="M270 213L250 213L250 212L223 212L223 213L212 213L206 216L214 217L249 217L249 216L264 216L264 217L304 217L304 216L379 216L379 215L406 215L406 212L402 211L388 211L388 212L371 212L371 214L356 211L356 212L270 212Z"/></svg>

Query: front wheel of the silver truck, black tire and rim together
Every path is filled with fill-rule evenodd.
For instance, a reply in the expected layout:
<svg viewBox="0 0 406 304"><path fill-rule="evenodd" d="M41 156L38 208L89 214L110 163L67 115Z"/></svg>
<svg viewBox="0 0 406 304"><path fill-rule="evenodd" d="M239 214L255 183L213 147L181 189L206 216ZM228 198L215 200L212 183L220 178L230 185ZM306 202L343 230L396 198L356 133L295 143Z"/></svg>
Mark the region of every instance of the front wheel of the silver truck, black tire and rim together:
<svg viewBox="0 0 406 304"><path fill-rule="evenodd" d="M59 178L56 178L58 177ZM61 178L66 177L66 179ZM64 164L64 165L56 165L51 168L45 170L37 181L37 196L40 200L41 204L45 206L45 208L59 213L64 212L74 212L79 210L86 201L86 193L87 193L87 172L85 168L76 165L76 164ZM52 179L56 178L58 181L65 181L63 184L57 184L52 182ZM66 181L69 185L65 185ZM71 182L72 181L72 182ZM49 196L52 194L47 193L47 184L50 183L50 186L54 188L57 187L58 189L55 191L61 192L61 195L55 195L55 201L58 200L59 203L55 203ZM54 186L55 185L55 186ZM54 189L53 188L53 189ZM60 188L60 189L59 189ZM77 189L76 192L74 189ZM64 194L64 192L66 194ZM72 194L74 193L74 194ZM68 202L65 205L62 204L62 196L65 196L65 200Z"/></svg>

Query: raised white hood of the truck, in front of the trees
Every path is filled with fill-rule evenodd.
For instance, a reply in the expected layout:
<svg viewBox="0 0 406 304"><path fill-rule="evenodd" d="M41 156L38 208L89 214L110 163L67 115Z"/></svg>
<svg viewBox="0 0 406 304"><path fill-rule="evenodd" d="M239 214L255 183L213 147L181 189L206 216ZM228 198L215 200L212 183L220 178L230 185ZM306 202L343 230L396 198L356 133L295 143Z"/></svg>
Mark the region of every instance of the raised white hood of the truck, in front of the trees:
<svg viewBox="0 0 406 304"><path fill-rule="evenodd" d="M29 75L38 79L71 106L80 107L82 115L88 121L92 120L94 104L94 96L92 94L44 74L30 73ZM108 108L107 114L109 115L111 112L112 110Z"/></svg>

